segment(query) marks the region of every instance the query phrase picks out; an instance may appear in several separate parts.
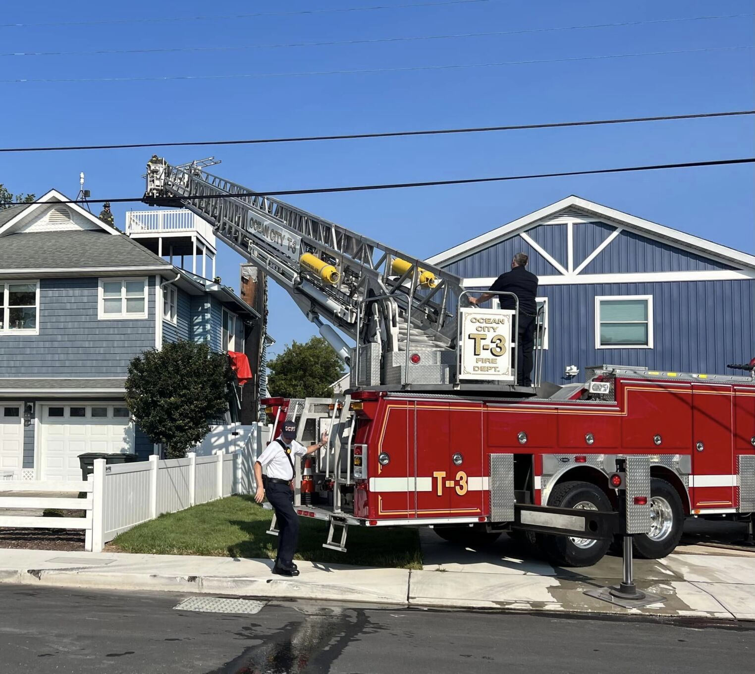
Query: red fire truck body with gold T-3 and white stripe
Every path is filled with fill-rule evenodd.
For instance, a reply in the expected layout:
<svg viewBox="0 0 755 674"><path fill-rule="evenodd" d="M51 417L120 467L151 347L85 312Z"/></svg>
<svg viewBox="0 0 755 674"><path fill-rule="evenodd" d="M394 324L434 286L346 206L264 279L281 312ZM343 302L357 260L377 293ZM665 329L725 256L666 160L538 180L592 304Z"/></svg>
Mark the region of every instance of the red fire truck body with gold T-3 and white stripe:
<svg viewBox="0 0 755 674"><path fill-rule="evenodd" d="M596 367L591 375L587 384L550 397L353 392L347 398L355 420L353 489L341 503L342 521L430 525L446 540L484 543L515 524L496 521L493 512L505 492L497 455L513 458L517 503L602 512L617 506L609 484L616 459L647 456L652 523L649 533L633 539L643 558L668 555L686 516L751 516L753 379L621 366ZM286 400L266 402L273 423L289 411ZM333 515L306 505L297 511ZM531 539L565 566L594 564L611 544L549 533Z"/></svg>

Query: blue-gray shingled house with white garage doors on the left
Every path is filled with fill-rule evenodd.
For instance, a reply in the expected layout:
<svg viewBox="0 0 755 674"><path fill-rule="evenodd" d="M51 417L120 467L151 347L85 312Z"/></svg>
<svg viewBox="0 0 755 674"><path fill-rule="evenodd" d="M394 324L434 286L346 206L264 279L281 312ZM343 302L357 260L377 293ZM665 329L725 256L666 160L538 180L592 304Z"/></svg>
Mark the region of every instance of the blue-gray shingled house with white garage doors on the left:
<svg viewBox="0 0 755 674"><path fill-rule="evenodd" d="M259 317L67 200L0 211L0 478L80 479L85 452L146 458L123 400L131 359L177 339L244 351Z"/></svg>

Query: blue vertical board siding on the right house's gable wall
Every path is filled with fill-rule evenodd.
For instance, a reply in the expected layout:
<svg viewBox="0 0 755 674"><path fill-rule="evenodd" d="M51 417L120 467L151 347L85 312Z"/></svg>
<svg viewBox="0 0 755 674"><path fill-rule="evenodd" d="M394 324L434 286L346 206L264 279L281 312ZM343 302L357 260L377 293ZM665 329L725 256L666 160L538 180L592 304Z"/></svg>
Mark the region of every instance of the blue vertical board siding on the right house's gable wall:
<svg viewBox="0 0 755 674"><path fill-rule="evenodd" d="M616 230L614 224L603 222L575 222L572 227L575 268ZM568 267L566 224L541 224L526 230L526 235L562 267ZM530 271L541 277L560 276L519 235L451 264L439 264L462 278L494 278L509 270L511 258L520 251L530 255ZM727 368L729 363L747 362L755 356L755 279L695 280L695 274L737 268L673 243L621 230L580 273L610 274L615 283L569 283L563 279L541 284L538 296L547 298L548 329L543 379L570 382L565 367L574 365L580 370L576 381L584 380L587 366L600 363L736 374ZM689 280L624 283L621 279L622 274L664 272L689 272ZM652 348L596 348L595 298L604 295L652 296Z"/></svg>

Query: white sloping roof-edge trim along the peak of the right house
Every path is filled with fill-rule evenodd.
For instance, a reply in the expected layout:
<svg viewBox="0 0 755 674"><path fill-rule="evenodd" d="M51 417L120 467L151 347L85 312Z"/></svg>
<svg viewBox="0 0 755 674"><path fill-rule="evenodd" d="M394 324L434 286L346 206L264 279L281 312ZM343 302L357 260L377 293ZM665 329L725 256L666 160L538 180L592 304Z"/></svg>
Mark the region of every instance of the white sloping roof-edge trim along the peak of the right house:
<svg viewBox="0 0 755 674"><path fill-rule="evenodd" d="M671 227L665 227L662 224L657 224L649 220L643 220L643 218L636 218L634 215L629 215L628 213L617 211L608 206L602 206L599 203L589 201L588 199L582 199L581 197L574 195L567 196L565 199L561 199L550 206L545 206L529 215L525 215L522 218L504 224L495 230L481 234L479 237L470 239L469 241L454 246L453 248L449 248L438 255L433 255L431 258L427 258L427 262L435 264L436 266L445 266L445 264L454 262L459 258L473 255L473 253L485 249L493 243L497 243L498 240L509 239L530 227L543 224L543 221L546 218L550 218L551 216L556 215L559 211L569 208L582 209L588 213L596 215L596 218L600 220L608 221L607 224L615 224L624 227L624 229L634 230L646 237L661 240L664 243L670 243L673 246L685 249L688 252L693 252L697 255L717 259L725 264L741 264L755 269L755 255L750 255L749 253L735 250L727 246L721 246L718 243L713 243L712 241L692 236L692 234L687 234L680 230L672 229Z"/></svg>

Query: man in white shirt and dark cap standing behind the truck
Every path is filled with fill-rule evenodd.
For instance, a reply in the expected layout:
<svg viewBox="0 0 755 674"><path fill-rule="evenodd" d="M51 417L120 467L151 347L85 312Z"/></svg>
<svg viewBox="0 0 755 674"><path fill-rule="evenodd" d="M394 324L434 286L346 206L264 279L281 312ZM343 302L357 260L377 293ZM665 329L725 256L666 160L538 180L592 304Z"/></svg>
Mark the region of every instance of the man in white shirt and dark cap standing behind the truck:
<svg viewBox="0 0 755 674"><path fill-rule="evenodd" d="M299 570L294 564L294 552L299 538L299 518L294 512L294 493L291 480L294 479L294 459L316 452L328 444L328 434L323 433L319 443L304 447L294 440L296 424L284 422L281 434L273 440L254 462L254 478L257 480L257 493L254 500L261 503L267 491L267 500L276 511L278 521L278 556L273 567L273 574L280 576L298 576ZM262 478L262 468L267 475Z"/></svg>

